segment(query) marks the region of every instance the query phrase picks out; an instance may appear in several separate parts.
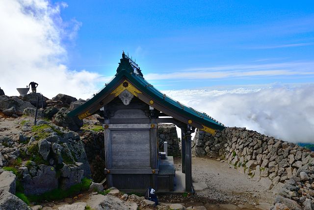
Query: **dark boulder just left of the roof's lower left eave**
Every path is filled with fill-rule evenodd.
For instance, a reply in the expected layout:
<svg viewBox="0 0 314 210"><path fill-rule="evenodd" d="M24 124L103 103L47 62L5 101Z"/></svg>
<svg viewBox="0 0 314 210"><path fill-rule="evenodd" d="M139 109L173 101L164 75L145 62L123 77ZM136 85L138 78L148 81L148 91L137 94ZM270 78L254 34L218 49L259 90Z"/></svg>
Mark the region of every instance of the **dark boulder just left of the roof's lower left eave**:
<svg viewBox="0 0 314 210"><path fill-rule="evenodd" d="M62 107L57 114L54 115L53 117L53 122L56 125L68 128L73 131L77 131L81 126L83 126L83 120L79 120L78 117L69 117L68 113L70 111Z"/></svg>

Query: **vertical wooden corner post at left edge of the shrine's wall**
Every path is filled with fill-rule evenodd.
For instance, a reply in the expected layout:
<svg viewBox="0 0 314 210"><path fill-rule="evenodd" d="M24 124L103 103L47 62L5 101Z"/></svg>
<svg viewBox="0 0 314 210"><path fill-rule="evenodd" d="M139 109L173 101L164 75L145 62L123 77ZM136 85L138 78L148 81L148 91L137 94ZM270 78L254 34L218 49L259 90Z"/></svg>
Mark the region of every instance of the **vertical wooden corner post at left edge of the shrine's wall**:
<svg viewBox="0 0 314 210"><path fill-rule="evenodd" d="M105 125L107 125L110 123L110 121L105 120L104 123L105 123ZM106 170L110 171L110 169L112 167L110 129L104 128L104 134L105 134L105 164L106 164ZM112 174L110 174L110 173L105 173L105 174L106 174L107 188L112 187L113 186Z"/></svg>

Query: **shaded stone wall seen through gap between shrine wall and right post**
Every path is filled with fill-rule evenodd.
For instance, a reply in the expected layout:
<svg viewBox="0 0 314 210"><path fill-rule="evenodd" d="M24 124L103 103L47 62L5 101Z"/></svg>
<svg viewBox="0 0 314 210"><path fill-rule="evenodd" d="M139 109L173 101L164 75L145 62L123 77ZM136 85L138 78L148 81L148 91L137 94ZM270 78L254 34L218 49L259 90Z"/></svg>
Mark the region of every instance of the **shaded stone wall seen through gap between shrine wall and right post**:
<svg viewBox="0 0 314 210"><path fill-rule="evenodd" d="M181 156L178 133L174 124L158 124L159 151L163 151L163 142L168 143L168 156Z"/></svg>

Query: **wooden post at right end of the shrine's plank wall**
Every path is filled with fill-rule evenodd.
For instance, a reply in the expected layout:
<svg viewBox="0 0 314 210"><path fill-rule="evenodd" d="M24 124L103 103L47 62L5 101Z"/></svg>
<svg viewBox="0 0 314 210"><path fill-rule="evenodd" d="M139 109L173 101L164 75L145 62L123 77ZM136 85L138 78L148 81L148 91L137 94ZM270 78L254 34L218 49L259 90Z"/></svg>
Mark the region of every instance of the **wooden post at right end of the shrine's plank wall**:
<svg viewBox="0 0 314 210"><path fill-rule="evenodd" d="M153 126L154 125L154 126ZM158 138L157 138L157 123L151 124L150 129L150 153L151 153L151 168L156 170L158 168ZM151 185L152 188L157 190L158 188L158 174L152 174L151 176Z"/></svg>

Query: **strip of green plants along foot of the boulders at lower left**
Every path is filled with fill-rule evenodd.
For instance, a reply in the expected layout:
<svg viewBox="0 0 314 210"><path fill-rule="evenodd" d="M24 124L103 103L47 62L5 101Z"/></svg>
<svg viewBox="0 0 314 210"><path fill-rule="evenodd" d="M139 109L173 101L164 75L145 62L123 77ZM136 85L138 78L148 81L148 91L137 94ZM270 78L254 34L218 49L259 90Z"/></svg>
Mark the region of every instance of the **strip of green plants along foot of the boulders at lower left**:
<svg viewBox="0 0 314 210"><path fill-rule="evenodd" d="M81 191L85 191L89 189L90 183L92 180L87 178L83 178L81 183L72 185L69 189L54 189L49 192L45 192L41 195L29 195L28 200L31 202L40 202L40 201L53 201L53 200L61 200L66 197L73 196L74 194L78 194Z"/></svg>

